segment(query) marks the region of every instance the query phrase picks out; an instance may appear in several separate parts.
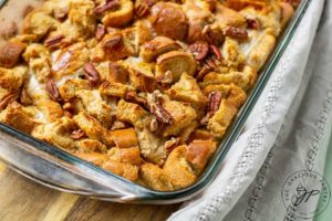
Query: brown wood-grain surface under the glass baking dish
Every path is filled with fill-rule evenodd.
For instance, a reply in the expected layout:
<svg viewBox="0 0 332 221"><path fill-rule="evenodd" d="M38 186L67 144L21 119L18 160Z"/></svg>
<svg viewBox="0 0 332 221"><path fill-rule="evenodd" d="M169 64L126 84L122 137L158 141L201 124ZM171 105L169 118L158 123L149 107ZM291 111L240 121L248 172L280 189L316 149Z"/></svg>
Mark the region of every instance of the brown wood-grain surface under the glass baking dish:
<svg viewBox="0 0 332 221"><path fill-rule="evenodd" d="M0 162L1 221L158 221L178 207L121 204L64 193L34 183Z"/></svg>

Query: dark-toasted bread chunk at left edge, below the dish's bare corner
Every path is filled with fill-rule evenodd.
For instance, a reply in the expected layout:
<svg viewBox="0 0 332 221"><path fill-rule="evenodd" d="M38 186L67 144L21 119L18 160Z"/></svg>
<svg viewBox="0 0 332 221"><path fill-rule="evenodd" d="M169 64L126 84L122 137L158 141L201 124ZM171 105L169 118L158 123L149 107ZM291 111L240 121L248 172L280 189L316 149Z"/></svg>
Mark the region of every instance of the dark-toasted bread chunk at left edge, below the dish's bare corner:
<svg viewBox="0 0 332 221"><path fill-rule="evenodd" d="M24 46L19 43L6 42L0 46L0 66L13 67L20 60Z"/></svg>

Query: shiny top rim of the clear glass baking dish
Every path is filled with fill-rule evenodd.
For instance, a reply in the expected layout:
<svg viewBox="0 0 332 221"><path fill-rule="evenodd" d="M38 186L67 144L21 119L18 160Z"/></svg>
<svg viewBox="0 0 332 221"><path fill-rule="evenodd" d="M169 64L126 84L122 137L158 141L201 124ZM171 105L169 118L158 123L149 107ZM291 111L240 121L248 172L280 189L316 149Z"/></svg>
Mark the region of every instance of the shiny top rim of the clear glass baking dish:
<svg viewBox="0 0 332 221"><path fill-rule="evenodd" d="M9 0L0 0L0 10L1 8L8 2ZM251 90L246 103L241 107L240 112L237 114L236 119L234 120L232 125L228 128L227 134L225 135L225 138L220 141L218 145L218 149L212 156L212 158L209 160L209 164L207 165L205 171L199 176L197 181L193 183L191 186L175 190L175 191L156 191L148 189L146 187L139 186L135 182L132 182L129 180L126 180L123 177L120 177L115 173L112 173L111 171L107 171L105 169L102 169L93 164L90 164L83 159L80 159L70 152L66 152L63 149L60 149L55 146L52 146L48 143L44 143L42 140L39 140L30 135L27 135L22 131L17 130L15 128L12 128L8 125L4 125L0 123L0 130L8 136L11 136L14 139L19 139L20 141L27 143L34 148L44 151L53 157L56 157L65 162L69 162L73 166L75 165L84 165L85 167L89 167L93 169L96 172L111 176L114 179L120 179L123 181L128 188L135 189L135 192L141 192L145 194L139 194L139 199L142 200L154 200L156 197L158 199L174 199L174 198L185 198L188 196L191 196L194 192L203 191L204 188L206 188L215 178L217 175L218 169L220 168L221 162L224 161L227 152L231 148L234 141L238 138L248 116L250 115L253 106L256 105L258 98L260 97L266 84L269 82L269 78L276 69L280 57L282 56L284 50L287 49L289 42L292 40L292 36L299 27L303 15L307 12L307 9L309 8L312 0L302 0L299 8L295 11L295 14L291 19L291 21L288 23L286 30L283 31L282 35L278 38L278 43L271 55L269 56L269 60L266 62L263 69L259 71L259 78L255 85L255 87Z"/></svg>

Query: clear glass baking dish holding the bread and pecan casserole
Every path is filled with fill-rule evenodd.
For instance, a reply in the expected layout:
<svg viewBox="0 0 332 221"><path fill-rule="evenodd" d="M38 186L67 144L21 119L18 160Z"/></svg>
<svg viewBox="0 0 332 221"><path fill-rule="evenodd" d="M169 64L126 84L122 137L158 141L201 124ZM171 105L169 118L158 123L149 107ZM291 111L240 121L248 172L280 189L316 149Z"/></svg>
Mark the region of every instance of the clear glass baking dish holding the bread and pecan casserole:
<svg viewBox="0 0 332 221"><path fill-rule="evenodd" d="M23 21L23 14L42 0L0 0L0 29L10 30L15 22ZM0 160L17 172L44 186L61 191L116 202L175 203L185 201L203 191L216 176L221 161L239 136L246 119L263 91L271 73L293 36L311 0L302 0L279 43L260 71L255 88L229 127L218 150L210 159L200 178L190 187L172 192L154 191L110 171L101 169L62 149L28 136L0 123ZM1 30L0 30L1 31ZM3 38L0 36L0 42ZM1 53L1 52L0 52Z"/></svg>

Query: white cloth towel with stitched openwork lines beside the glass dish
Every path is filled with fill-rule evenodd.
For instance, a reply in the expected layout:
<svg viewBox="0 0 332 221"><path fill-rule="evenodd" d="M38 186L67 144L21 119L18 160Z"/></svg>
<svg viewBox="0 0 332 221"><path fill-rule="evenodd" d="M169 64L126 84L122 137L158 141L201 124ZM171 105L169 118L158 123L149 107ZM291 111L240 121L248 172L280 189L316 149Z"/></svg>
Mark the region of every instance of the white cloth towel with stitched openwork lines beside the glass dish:
<svg viewBox="0 0 332 221"><path fill-rule="evenodd" d="M325 4L315 36L324 0L311 2L214 182L169 220L298 219L299 211L283 206L282 186L297 171L322 173L322 135L331 133L330 0Z"/></svg>

